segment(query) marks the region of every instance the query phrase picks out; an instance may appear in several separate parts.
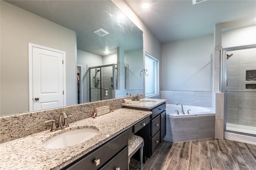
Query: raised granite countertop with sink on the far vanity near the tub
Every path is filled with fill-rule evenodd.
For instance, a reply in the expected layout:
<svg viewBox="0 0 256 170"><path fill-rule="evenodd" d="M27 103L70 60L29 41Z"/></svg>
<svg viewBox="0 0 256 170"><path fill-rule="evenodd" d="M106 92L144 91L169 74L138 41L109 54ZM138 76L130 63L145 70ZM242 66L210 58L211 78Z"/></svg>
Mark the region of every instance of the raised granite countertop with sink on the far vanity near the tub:
<svg viewBox="0 0 256 170"><path fill-rule="evenodd" d="M166 101L167 101L166 99L140 99L139 101L122 103L122 106L153 109L154 107L159 106Z"/></svg>

